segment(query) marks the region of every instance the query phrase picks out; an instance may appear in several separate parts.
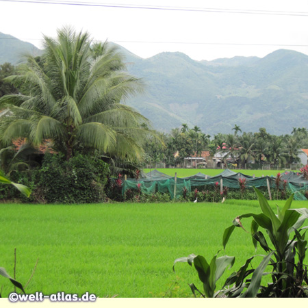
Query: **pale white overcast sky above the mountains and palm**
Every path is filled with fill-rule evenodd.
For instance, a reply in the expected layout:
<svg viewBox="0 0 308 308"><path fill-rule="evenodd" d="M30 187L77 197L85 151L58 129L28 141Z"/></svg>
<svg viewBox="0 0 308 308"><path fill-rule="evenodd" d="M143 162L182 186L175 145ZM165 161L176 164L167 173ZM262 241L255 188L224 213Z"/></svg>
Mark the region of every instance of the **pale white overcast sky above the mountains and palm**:
<svg viewBox="0 0 308 308"><path fill-rule="evenodd" d="M181 51L194 60L264 57L282 48L308 54L307 0L82 1L96 6L73 5L81 0L46 0L70 5L14 1L0 0L0 32L37 47L42 34L55 37L57 28L71 25L140 57L162 51Z"/></svg>

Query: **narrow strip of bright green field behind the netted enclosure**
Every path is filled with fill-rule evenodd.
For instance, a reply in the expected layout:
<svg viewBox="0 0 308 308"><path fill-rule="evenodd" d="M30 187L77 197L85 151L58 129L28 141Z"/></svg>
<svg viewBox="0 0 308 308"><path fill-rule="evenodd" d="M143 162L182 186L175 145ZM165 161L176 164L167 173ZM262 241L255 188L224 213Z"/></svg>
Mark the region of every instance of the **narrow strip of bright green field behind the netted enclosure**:
<svg viewBox="0 0 308 308"><path fill-rule="evenodd" d="M149 172L154 169L144 169L144 172ZM183 169L183 168L157 168L158 171L165 173L166 175L175 176L177 172L177 177L190 177L191 175L196 175L196 173L201 172L205 175L214 177L223 171L223 169ZM244 175L255 175L255 177L262 177L262 175L272 175L276 177L277 173L283 173L285 170L244 170L244 169L233 169L233 172L242 172Z"/></svg>

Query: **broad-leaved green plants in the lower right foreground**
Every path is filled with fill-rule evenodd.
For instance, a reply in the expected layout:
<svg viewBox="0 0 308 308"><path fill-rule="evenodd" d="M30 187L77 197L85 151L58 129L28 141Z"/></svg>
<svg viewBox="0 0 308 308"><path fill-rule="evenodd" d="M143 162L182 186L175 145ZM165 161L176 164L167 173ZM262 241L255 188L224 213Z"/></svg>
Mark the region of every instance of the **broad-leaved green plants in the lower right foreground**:
<svg viewBox="0 0 308 308"><path fill-rule="evenodd" d="M274 214L268 201L255 188L261 214L244 214L233 220L231 227L225 229L222 245L225 248L235 227L242 226L241 219L252 217L251 236L253 245L261 246L266 252L257 268L253 268L251 261L256 255L248 258L237 272L233 272L224 282L221 290L216 291L216 281L224 271L234 264L235 257L227 255L217 257L208 263L201 255L190 255L175 260L188 262L198 272L203 283L203 292L192 283L192 292L196 291L204 297L308 297L307 266L304 259L307 251L305 235L308 227L302 227L308 218L308 210L291 209L293 195L286 201L283 209L277 206L277 215ZM266 231L264 234L262 231ZM246 231L246 230L245 230ZM175 264L173 270L175 270ZM268 268L272 270L266 272ZM270 275L270 283L261 285L262 277Z"/></svg>

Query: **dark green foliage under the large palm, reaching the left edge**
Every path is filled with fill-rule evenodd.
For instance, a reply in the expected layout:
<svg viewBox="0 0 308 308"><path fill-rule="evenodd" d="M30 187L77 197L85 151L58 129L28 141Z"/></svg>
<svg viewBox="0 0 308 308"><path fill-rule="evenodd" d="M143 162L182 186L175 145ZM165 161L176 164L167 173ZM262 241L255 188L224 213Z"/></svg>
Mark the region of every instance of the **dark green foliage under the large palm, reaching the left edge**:
<svg viewBox="0 0 308 308"><path fill-rule="evenodd" d="M110 176L109 166L101 157L74 155L44 155L42 166L14 170L11 179L26 184L32 190L24 198L8 187L0 187L0 200L18 199L29 203L98 203L105 200L105 184Z"/></svg>

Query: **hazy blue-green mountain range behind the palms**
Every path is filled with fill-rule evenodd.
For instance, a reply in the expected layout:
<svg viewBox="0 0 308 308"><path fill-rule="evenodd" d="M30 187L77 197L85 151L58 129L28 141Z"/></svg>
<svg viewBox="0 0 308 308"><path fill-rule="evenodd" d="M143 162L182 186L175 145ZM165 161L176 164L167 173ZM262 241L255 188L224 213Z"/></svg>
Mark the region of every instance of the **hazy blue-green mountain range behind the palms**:
<svg viewBox="0 0 308 308"><path fill-rule="evenodd" d="M277 135L308 127L308 55L279 49L263 58L196 61L179 52L144 59L119 48L129 73L142 78L146 90L127 104L158 131L183 123L210 135L233 133L235 124L242 131L265 127ZM23 49L40 54L29 43L0 39L0 64L18 63L13 54Z"/></svg>

